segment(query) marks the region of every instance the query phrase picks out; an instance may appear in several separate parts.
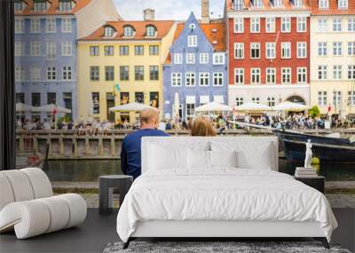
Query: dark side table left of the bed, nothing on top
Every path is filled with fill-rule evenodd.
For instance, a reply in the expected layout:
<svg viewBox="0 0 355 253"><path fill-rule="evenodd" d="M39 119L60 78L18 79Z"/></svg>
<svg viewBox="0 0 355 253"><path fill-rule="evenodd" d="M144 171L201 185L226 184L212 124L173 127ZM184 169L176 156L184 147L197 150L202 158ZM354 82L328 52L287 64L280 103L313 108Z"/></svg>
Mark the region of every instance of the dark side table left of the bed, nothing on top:
<svg viewBox="0 0 355 253"><path fill-rule="evenodd" d="M119 189L121 205L132 183L132 176L108 175L99 177L99 213L109 214L112 212L114 188Z"/></svg>

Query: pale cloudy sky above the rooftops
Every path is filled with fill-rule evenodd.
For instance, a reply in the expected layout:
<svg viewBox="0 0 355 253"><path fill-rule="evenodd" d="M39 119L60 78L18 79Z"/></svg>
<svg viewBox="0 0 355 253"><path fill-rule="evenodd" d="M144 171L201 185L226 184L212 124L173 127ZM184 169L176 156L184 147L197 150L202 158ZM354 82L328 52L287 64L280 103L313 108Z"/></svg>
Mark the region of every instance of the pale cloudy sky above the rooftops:
<svg viewBox="0 0 355 253"><path fill-rule="evenodd" d="M114 4L124 20L142 20L142 7L153 8L156 20L186 20L190 12L201 17L200 0L114 0ZM211 17L222 17L224 6L225 0L209 0Z"/></svg>

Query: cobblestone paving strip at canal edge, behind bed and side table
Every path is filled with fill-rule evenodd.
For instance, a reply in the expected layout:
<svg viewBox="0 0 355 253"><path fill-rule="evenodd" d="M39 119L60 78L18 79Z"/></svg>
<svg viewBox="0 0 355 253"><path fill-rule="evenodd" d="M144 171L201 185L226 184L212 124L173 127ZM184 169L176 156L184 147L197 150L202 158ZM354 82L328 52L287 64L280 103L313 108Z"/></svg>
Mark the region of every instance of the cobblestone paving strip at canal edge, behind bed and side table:
<svg viewBox="0 0 355 253"><path fill-rule="evenodd" d="M81 194L88 208L99 208L99 194ZM114 207L119 206L118 195L114 195ZM327 194L327 199L332 208L355 209L355 194Z"/></svg>

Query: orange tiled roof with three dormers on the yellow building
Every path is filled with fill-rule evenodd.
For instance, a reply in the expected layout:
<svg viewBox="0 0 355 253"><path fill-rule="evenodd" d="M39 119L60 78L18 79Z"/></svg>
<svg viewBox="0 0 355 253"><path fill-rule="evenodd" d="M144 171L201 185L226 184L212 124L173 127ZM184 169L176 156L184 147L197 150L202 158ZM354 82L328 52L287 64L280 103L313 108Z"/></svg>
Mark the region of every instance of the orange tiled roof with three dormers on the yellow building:
<svg viewBox="0 0 355 253"><path fill-rule="evenodd" d="M170 28L174 25L173 20L146 20L146 21L108 21L104 26L94 31L90 36L86 36L81 41L90 40L160 40L166 36ZM146 27L152 25L156 28L157 34L154 37L146 37ZM114 37L104 37L104 28L111 26L116 30ZM123 28L131 26L135 30L132 37L123 36Z"/></svg>

